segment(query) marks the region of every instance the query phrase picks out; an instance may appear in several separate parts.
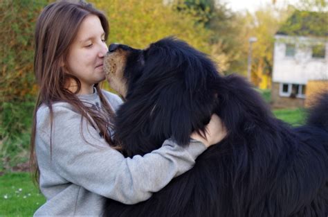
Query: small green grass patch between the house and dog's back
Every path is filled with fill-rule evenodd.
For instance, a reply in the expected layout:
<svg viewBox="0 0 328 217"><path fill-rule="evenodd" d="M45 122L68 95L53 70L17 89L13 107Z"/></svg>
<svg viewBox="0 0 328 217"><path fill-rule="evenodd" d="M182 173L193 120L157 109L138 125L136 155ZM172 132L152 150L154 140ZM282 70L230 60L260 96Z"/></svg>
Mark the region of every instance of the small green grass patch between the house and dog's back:
<svg viewBox="0 0 328 217"><path fill-rule="evenodd" d="M277 119L281 119L291 125L302 125L305 119L305 110L302 108L273 110Z"/></svg>

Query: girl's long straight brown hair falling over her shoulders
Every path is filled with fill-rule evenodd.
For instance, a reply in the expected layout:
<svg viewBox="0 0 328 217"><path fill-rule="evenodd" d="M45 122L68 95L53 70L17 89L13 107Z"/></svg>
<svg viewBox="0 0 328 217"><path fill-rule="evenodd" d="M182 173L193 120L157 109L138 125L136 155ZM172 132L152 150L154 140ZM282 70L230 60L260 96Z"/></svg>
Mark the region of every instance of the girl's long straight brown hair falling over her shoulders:
<svg viewBox="0 0 328 217"><path fill-rule="evenodd" d="M69 73L65 73L62 67L62 62L66 60L69 47L78 33L80 24L87 15L96 15L99 17L102 28L104 29L105 40L107 40L109 35L107 18L102 12L84 1L58 1L51 3L44 8L37 19L35 28L34 71L39 85L39 94L35 105L30 141L30 168L37 182L39 181L39 167L37 166L37 158L35 156L35 133L37 124L36 114L40 105L49 107L51 132L53 122L52 105L55 102L64 101L73 105L75 110L82 115L82 119L87 119L93 127L98 128L107 143L110 146L114 146L108 130L112 127L109 119L113 116L113 111L104 98L100 90L100 85L95 84L95 88L100 96L103 108L102 112L95 111L80 101L78 96L76 96L76 93L81 89L80 80ZM76 92L73 93L66 87L67 79L75 80L78 85Z"/></svg>

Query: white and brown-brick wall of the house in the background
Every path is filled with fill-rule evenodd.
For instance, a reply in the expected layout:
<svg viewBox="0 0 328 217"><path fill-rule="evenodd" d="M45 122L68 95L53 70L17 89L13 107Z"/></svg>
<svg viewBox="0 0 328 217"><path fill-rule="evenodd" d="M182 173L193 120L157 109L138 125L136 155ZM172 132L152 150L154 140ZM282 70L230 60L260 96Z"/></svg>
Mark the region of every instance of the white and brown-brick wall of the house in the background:
<svg viewBox="0 0 328 217"><path fill-rule="evenodd" d="M286 56L286 44L295 44L295 55L293 57ZM312 46L316 44L325 46L325 58L312 57ZM311 90L308 91L308 81L328 80L327 40L275 35L272 77L271 99L273 107L304 106L306 98L309 98L307 94L311 92ZM286 95L286 93L282 93L282 84L300 85L302 86L300 90L305 90L305 93L298 92L295 98L282 96L283 94Z"/></svg>

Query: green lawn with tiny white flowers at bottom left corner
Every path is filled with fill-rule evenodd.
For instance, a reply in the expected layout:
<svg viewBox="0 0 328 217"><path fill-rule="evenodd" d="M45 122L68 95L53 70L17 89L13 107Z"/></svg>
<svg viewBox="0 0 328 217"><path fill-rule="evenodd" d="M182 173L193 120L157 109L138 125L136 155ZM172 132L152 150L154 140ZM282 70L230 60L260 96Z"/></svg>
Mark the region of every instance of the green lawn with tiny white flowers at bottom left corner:
<svg viewBox="0 0 328 217"><path fill-rule="evenodd" d="M1 175L0 186L0 216L33 216L46 201L29 173Z"/></svg>

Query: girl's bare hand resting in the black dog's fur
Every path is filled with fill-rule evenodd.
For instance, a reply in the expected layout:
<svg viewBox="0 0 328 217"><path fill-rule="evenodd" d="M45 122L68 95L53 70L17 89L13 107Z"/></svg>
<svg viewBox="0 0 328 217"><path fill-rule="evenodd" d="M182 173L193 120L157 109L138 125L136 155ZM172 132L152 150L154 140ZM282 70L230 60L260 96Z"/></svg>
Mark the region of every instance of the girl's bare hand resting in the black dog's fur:
<svg viewBox="0 0 328 217"><path fill-rule="evenodd" d="M226 127L222 123L217 114L212 114L210 123L206 125L206 134L200 135L197 132L192 132L190 137L203 143L207 148L219 143L224 137L226 137ZM203 137L202 137L203 136Z"/></svg>

